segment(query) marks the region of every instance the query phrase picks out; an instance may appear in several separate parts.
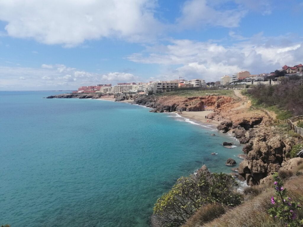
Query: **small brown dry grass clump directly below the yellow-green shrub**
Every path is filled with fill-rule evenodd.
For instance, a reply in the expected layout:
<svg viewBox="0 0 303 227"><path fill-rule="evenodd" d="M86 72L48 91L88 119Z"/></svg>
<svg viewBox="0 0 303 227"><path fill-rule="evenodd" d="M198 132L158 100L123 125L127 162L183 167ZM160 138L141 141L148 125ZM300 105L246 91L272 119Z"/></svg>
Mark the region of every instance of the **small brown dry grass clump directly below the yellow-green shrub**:
<svg viewBox="0 0 303 227"><path fill-rule="evenodd" d="M218 218L225 213L225 207L220 203L211 203L202 206L182 227L198 227Z"/></svg>

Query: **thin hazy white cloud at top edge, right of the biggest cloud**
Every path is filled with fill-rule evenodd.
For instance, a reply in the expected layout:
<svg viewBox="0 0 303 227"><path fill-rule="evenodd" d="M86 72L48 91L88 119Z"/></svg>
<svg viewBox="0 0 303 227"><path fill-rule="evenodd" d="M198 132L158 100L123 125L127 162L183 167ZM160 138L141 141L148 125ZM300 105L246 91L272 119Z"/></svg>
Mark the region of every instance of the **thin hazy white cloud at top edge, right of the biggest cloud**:
<svg viewBox="0 0 303 227"><path fill-rule="evenodd" d="M231 10L216 10L207 0L188 0L181 10L182 15L177 19L181 28L199 28L203 25L222 26L227 28L238 27L245 10L238 8Z"/></svg>

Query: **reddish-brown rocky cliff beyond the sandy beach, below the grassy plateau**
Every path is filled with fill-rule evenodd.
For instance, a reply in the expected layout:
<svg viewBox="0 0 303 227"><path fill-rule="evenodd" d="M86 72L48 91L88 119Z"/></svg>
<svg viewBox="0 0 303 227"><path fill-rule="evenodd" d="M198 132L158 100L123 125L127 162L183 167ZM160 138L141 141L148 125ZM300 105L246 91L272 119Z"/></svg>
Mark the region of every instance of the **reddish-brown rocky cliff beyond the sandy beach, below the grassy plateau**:
<svg viewBox="0 0 303 227"><path fill-rule="evenodd" d="M135 99L136 104L146 105L153 108L152 112L173 111L201 111L206 107L218 108L231 102L231 97L226 96L202 96L202 97L179 97L179 96L141 96Z"/></svg>

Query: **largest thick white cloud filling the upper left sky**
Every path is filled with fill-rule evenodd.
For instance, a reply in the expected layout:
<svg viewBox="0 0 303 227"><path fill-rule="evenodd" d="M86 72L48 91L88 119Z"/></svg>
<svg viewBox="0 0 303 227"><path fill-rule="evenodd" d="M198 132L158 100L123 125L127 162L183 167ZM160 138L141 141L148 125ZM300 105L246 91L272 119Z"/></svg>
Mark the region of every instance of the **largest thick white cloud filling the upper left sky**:
<svg viewBox="0 0 303 227"><path fill-rule="evenodd" d="M154 18L156 0L2 0L0 20L7 34L72 47L102 37L140 41L162 25Z"/></svg>

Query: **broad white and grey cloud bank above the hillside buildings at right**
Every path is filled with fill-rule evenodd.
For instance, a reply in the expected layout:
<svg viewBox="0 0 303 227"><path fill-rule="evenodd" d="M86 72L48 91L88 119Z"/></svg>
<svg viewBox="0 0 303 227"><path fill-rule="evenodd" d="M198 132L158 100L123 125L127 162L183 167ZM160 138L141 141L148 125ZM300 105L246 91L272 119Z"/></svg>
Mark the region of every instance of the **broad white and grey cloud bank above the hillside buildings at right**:
<svg viewBox="0 0 303 227"><path fill-rule="evenodd" d="M281 37L265 38L262 34L243 40L229 46L213 41L172 40L165 48L151 46L144 52L128 56L128 60L175 65L161 74L165 77L171 75L170 79L182 76L215 81L225 74L231 75L242 70L248 70L251 74L271 72L285 64L299 64L298 59L303 59L302 42L281 42Z"/></svg>

